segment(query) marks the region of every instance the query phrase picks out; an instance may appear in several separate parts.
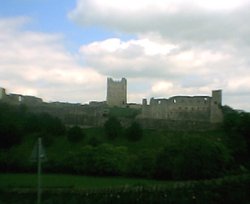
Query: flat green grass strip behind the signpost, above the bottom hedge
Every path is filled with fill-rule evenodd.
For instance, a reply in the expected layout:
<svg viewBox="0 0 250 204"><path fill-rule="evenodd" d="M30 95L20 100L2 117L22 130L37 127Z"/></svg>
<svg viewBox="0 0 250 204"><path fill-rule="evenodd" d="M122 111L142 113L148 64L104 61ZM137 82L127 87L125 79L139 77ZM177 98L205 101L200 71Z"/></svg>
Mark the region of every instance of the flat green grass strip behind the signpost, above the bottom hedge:
<svg viewBox="0 0 250 204"><path fill-rule="evenodd" d="M156 180L122 178L122 177L89 177L64 174L42 175L44 188L108 188L119 186L171 184ZM0 188L35 188L36 174L0 174Z"/></svg>

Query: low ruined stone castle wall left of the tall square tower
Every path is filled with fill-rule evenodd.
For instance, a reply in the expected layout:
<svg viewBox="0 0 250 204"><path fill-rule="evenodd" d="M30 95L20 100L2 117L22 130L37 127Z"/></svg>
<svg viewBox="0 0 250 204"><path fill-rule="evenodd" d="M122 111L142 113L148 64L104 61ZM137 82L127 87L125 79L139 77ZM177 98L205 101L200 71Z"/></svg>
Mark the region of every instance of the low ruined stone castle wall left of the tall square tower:
<svg viewBox="0 0 250 204"><path fill-rule="evenodd" d="M20 94L6 94L5 89L0 89L0 102L11 105L26 105L33 113L48 113L58 117L66 125L79 125L82 127L100 127L106 118L103 113L106 110L105 103L82 105L72 103L43 102L41 98L23 96Z"/></svg>

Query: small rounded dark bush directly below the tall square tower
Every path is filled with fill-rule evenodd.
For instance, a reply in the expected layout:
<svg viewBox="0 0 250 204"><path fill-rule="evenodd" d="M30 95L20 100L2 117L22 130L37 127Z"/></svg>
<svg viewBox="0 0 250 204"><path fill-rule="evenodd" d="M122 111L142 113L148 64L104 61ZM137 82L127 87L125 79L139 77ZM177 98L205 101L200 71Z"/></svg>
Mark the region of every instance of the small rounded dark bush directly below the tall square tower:
<svg viewBox="0 0 250 204"><path fill-rule="evenodd" d="M116 117L110 117L104 124L104 130L106 136L113 140L121 134L122 126Z"/></svg>

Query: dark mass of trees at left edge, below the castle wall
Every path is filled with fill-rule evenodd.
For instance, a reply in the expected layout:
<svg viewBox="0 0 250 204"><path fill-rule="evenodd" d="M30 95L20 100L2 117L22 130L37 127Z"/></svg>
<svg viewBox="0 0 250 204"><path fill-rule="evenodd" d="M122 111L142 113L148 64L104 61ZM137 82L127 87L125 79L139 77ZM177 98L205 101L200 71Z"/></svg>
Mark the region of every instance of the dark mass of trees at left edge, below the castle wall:
<svg viewBox="0 0 250 204"><path fill-rule="evenodd" d="M51 145L64 130L56 117L31 113L25 105L0 103L0 171L31 171L34 141L42 137L45 146Z"/></svg>

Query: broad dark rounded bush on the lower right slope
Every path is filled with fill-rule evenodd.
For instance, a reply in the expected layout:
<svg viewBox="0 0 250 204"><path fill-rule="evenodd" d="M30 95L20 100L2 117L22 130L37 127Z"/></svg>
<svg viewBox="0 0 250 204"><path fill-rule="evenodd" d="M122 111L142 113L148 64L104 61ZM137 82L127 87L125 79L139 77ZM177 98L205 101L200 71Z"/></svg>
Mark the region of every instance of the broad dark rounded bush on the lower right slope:
<svg viewBox="0 0 250 204"><path fill-rule="evenodd" d="M165 179L208 179L222 176L230 162L228 149L202 137L182 137L157 156L156 176Z"/></svg>

